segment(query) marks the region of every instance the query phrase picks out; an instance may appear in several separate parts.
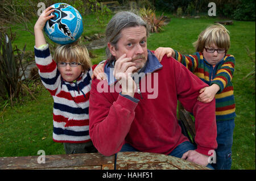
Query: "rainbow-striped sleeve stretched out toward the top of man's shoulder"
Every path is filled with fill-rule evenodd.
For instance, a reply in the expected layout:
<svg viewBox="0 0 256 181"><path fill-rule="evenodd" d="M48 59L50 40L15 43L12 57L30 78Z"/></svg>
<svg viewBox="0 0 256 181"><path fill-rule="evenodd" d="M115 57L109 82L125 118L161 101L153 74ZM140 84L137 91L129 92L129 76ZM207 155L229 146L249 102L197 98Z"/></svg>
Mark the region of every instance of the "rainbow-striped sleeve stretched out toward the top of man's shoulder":
<svg viewBox="0 0 256 181"><path fill-rule="evenodd" d="M183 55L180 52L177 52L177 50L174 50L174 52L175 59L183 64L188 70L192 71L192 73L194 73L198 67L199 60L203 58L203 55L199 53Z"/></svg>

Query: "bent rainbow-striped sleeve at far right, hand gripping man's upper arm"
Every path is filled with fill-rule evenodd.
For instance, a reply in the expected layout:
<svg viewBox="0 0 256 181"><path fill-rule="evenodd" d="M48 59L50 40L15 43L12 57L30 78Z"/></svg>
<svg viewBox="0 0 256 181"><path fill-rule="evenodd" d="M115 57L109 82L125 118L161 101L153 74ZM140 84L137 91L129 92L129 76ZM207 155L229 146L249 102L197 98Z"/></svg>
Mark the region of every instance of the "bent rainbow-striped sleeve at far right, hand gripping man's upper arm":
<svg viewBox="0 0 256 181"><path fill-rule="evenodd" d="M222 92L225 89L226 85L228 85L228 83L232 81L234 64L234 56L226 55L224 57L224 64L222 64L221 68L217 70L215 78L210 83L210 85L213 85L213 83L215 83L220 87L220 90L218 92Z"/></svg>

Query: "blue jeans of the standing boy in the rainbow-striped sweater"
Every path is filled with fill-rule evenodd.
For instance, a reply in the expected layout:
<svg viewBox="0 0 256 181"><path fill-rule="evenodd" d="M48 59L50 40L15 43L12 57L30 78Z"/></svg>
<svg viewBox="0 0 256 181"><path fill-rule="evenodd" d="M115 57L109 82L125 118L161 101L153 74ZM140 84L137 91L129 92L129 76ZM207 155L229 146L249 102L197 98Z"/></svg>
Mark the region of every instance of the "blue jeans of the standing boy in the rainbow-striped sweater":
<svg viewBox="0 0 256 181"><path fill-rule="evenodd" d="M216 163L212 163L214 169L231 169L234 126L234 119L217 121L218 148L215 150Z"/></svg>

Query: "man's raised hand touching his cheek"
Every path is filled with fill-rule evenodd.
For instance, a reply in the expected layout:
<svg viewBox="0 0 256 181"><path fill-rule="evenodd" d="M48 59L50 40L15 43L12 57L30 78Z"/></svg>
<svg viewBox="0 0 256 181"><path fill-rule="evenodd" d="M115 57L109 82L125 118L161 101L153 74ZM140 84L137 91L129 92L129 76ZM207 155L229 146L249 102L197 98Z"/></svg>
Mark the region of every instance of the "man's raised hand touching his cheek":
<svg viewBox="0 0 256 181"><path fill-rule="evenodd" d="M126 54L123 54L121 57L115 61L115 67L113 75L115 79L119 81L122 85L122 94L134 96L136 89L136 84L131 78L131 74L137 70L136 64L131 62L131 57L126 57Z"/></svg>

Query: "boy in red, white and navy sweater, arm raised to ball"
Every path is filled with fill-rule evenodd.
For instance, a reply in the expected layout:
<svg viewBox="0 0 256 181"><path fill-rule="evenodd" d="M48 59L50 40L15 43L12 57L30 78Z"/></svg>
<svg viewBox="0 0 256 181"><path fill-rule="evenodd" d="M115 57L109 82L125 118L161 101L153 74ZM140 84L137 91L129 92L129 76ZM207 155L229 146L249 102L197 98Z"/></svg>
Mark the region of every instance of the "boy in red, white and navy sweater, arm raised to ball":
<svg viewBox="0 0 256 181"><path fill-rule="evenodd" d="M76 43L56 48L54 60L43 35L43 27L53 18L48 7L35 24L35 61L43 85L51 93L53 141L63 142L67 154L94 153L89 136L89 95L93 70L86 47Z"/></svg>

